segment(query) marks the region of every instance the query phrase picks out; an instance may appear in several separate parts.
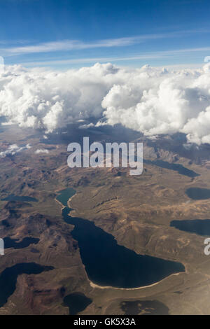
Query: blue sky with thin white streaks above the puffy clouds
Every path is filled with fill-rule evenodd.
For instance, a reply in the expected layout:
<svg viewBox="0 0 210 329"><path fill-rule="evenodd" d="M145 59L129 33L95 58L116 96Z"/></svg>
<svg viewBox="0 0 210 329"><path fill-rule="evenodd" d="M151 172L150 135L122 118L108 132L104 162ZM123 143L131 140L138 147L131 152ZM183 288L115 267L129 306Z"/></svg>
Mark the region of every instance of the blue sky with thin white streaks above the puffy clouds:
<svg viewBox="0 0 210 329"><path fill-rule="evenodd" d="M210 55L207 0L0 0L6 64L59 69L199 65Z"/></svg>

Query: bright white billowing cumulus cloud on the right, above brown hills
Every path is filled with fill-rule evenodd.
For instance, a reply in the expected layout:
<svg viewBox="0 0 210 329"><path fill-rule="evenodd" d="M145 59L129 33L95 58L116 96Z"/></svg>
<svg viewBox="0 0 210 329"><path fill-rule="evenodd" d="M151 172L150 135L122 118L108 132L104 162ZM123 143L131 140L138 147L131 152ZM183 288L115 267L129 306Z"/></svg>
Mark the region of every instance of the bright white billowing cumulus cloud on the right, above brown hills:
<svg viewBox="0 0 210 329"><path fill-rule="evenodd" d="M210 143L210 65L202 70L167 71L144 66L102 101L106 123L121 123L147 136L187 134Z"/></svg>

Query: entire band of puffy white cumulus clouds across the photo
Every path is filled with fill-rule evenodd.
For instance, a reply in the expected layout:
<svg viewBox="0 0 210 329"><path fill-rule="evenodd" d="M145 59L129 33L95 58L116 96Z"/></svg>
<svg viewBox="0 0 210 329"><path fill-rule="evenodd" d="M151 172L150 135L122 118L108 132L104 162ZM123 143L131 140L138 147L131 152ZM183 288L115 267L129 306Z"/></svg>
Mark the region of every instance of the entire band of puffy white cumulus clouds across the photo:
<svg viewBox="0 0 210 329"><path fill-rule="evenodd" d="M121 123L150 137L183 132L191 143L210 144L210 64L181 71L9 66L0 73L0 116L45 132L97 118L97 125Z"/></svg>

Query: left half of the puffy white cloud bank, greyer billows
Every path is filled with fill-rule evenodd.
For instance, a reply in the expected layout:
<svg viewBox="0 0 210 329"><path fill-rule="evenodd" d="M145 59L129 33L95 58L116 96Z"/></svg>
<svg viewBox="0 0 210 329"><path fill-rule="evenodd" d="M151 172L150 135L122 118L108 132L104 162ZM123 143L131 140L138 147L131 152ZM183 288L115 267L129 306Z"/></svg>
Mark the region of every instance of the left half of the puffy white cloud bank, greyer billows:
<svg viewBox="0 0 210 329"><path fill-rule="evenodd" d="M46 132L90 116L100 118L102 99L113 83L120 83L117 72L111 64L66 72L10 66L0 75L0 115Z"/></svg>

